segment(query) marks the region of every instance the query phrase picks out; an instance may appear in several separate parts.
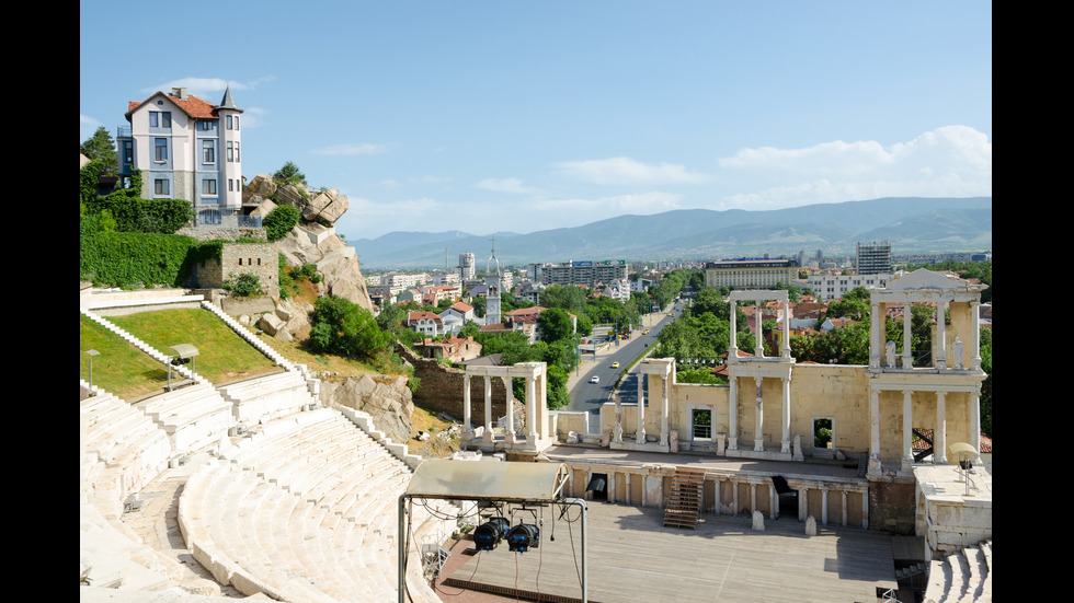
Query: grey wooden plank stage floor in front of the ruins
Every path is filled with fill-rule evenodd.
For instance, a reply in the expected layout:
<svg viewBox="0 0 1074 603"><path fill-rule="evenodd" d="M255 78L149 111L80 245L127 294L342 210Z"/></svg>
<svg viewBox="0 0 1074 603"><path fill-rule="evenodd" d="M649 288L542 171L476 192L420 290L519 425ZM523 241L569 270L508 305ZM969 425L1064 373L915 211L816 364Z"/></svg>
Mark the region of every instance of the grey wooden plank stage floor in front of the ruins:
<svg viewBox="0 0 1074 603"><path fill-rule="evenodd" d="M570 509L574 519L579 510ZM447 591L472 588L510 599L522 591L552 603L580 601L581 525L559 517L553 525L553 514L546 508L539 515L537 548L518 554L502 542L461 565L450 564L457 568L442 576L442 599L452 600L444 596ZM512 523L523 518L533 520L516 513ZM792 519L766 519L761 532L751 529L749 517L701 518L696 531L664 527L662 509L590 502L590 601L875 602L877 588L896 587L887 534L818 526L818 535L807 537L806 524Z"/></svg>

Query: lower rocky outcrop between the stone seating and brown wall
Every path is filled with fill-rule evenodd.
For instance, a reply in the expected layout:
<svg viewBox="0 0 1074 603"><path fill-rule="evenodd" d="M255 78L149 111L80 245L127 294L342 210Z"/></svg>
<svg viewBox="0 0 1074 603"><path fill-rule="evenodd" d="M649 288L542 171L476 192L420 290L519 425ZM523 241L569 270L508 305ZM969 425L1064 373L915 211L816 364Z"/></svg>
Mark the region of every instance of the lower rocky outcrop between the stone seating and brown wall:
<svg viewBox="0 0 1074 603"><path fill-rule="evenodd" d="M364 375L321 383L321 402L346 406L370 417L377 429L397 443L405 443L413 432L414 402L405 376Z"/></svg>

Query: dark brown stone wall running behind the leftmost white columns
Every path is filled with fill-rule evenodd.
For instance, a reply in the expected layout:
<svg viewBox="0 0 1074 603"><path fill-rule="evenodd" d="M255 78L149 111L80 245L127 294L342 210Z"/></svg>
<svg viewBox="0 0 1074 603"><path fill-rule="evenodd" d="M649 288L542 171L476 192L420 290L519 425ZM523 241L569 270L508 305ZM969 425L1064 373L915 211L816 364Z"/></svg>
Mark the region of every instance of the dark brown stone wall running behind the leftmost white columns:
<svg viewBox="0 0 1074 603"><path fill-rule="evenodd" d="M414 376L421 385L414 394L414 404L462 419L462 375L466 371L443 364L436 360L420 358L413 351L399 346L399 355L414 366ZM503 381L492 380L492 416L506 415ZM470 379L470 413L473 426L484 425L484 379Z"/></svg>

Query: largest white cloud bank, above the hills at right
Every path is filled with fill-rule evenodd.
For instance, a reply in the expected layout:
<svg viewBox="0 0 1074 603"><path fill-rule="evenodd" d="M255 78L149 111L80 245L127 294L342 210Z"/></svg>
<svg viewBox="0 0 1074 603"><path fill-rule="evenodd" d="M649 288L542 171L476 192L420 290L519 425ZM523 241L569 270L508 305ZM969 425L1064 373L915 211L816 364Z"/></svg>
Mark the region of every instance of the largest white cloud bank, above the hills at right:
<svg viewBox="0 0 1074 603"><path fill-rule="evenodd" d="M838 140L804 149L743 149L718 164L728 192L720 209L992 195L992 143L966 126L937 128L887 148Z"/></svg>

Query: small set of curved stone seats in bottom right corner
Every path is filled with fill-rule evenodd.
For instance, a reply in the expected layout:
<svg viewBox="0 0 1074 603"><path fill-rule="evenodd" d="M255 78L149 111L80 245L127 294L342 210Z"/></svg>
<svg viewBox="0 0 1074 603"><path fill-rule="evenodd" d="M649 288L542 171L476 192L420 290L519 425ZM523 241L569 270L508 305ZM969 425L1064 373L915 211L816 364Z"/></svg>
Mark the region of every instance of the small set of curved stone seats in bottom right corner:
<svg viewBox="0 0 1074 603"><path fill-rule="evenodd" d="M968 546L929 566L926 603L992 601L992 541Z"/></svg>

